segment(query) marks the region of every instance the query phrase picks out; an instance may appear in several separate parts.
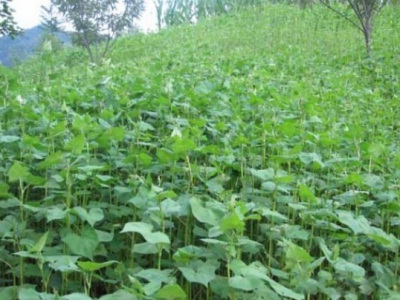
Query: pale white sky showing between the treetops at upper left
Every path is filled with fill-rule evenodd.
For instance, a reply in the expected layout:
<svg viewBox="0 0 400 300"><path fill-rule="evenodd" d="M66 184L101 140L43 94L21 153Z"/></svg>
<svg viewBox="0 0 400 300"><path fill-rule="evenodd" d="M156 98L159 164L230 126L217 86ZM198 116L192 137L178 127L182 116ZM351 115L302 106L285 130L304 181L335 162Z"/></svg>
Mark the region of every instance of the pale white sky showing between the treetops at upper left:
<svg viewBox="0 0 400 300"><path fill-rule="evenodd" d="M40 23L41 6L48 6L50 0L12 0L11 7L14 8L14 17L21 28L32 28ZM145 0L146 11L139 26L144 30L156 29L156 17L152 0Z"/></svg>

